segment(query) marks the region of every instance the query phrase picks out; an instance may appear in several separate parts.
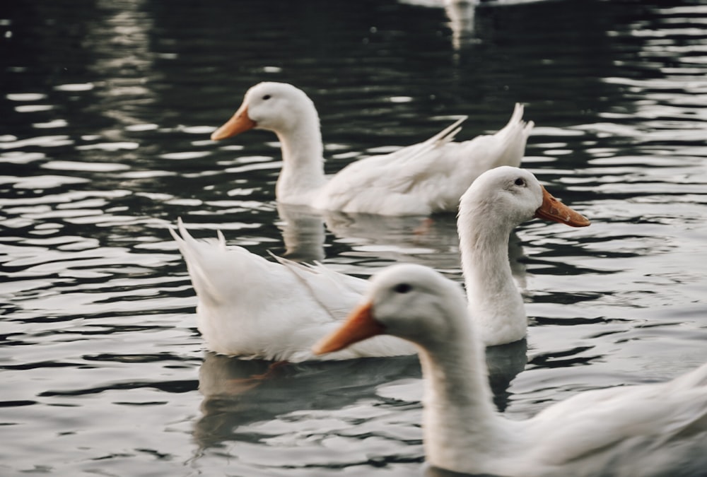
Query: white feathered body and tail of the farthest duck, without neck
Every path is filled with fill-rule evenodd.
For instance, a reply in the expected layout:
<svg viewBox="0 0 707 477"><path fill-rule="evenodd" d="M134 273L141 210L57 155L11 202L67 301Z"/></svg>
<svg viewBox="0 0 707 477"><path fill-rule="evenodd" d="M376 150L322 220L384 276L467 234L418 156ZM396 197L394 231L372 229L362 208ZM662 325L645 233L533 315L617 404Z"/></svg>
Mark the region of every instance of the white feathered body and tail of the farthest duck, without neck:
<svg viewBox="0 0 707 477"><path fill-rule="evenodd" d="M351 163L329 180L316 206L391 216L456 211L460 196L481 173L520 165L532 129L522 114L517 104L501 131L457 143L453 139L464 117L423 143Z"/></svg>

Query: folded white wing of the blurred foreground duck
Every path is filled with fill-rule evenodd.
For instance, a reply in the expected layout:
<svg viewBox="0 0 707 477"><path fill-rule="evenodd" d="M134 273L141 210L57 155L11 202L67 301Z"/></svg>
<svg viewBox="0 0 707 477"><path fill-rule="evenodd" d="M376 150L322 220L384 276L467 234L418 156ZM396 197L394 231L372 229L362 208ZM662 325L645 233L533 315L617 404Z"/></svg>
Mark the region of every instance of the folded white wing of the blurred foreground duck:
<svg viewBox="0 0 707 477"><path fill-rule="evenodd" d="M530 461L571 475L707 467L707 365L670 382L587 391L528 421Z"/></svg>

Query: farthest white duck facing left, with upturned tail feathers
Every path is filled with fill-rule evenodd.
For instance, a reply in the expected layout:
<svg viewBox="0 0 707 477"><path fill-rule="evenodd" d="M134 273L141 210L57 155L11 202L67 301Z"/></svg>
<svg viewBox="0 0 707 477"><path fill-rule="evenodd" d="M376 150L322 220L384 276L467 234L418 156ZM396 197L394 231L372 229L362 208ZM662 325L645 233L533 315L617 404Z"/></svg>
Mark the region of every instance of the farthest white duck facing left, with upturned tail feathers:
<svg viewBox="0 0 707 477"><path fill-rule="evenodd" d="M243 105L211 139L254 128L274 131L283 159L275 196L284 204L385 216L428 215L455 211L460 196L482 172L520 165L533 126L522 121L522 114L517 104L501 131L455 143L457 126L465 118L460 119L423 143L358 160L327 179L314 103L295 86L267 82L245 93Z"/></svg>

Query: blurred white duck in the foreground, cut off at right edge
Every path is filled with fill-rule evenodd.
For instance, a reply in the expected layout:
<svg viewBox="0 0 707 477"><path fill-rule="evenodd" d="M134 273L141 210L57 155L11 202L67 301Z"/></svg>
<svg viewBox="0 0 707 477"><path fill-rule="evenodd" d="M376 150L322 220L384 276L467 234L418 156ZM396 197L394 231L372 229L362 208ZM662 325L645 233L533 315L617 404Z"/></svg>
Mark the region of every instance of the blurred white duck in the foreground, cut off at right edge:
<svg viewBox="0 0 707 477"><path fill-rule="evenodd" d="M424 266L395 265L372 279L366 296L315 351L380 334L415 343L428 464L523 477L705 475L707 365L662 384L583 392L509 420L491 402L484 348L457 283Z"/></svg>

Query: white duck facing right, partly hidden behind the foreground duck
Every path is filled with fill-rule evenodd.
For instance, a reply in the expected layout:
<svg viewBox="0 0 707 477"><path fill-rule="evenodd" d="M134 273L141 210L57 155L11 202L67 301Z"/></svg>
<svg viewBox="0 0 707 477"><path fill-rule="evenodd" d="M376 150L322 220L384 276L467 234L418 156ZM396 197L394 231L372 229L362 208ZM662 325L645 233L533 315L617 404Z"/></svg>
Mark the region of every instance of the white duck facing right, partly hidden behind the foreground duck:
<svg viewBox="0 0 707 477"><path fill-rule="evenodd" d="M489 170L460 202L457 229L470 310L486 345L525 336L527 317L508 262L508 236L533 217L574 227L589 220L554 199L534 175L517 167ZM216 353L269 360L316 359L311 346L341 323L368 281L322 265L258 257L242 247L194 240L181 220L170 229L187 262L199 298L197 320L206 347ZM330 359L414 353L402 340L381 337Z"/></svg>

